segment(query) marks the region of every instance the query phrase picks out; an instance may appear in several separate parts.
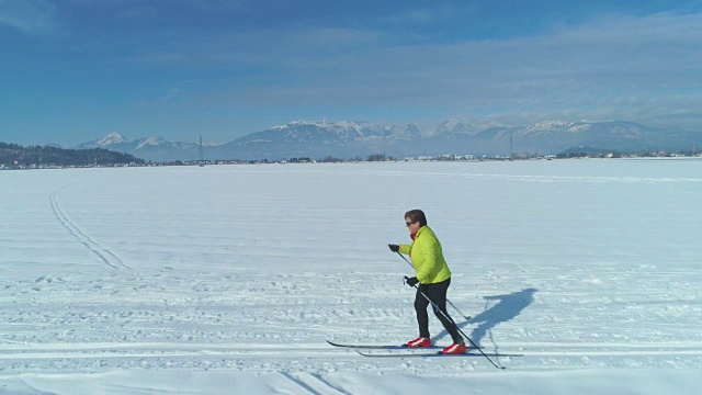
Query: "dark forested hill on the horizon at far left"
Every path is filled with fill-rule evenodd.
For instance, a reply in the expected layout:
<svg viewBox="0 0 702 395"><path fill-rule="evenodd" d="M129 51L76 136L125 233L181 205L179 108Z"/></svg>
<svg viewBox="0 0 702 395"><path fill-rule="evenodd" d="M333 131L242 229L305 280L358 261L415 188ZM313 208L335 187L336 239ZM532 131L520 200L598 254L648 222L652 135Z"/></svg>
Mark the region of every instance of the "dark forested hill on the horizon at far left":
<svg viewBox="0 0 702 395"><path fill-rule="evenodd" d="M50 146L23 147L16 144L0 142L0 165L8 167L32 166L107 166L107 165L144 163L129 154L94 149L64 149Z"/></svg>

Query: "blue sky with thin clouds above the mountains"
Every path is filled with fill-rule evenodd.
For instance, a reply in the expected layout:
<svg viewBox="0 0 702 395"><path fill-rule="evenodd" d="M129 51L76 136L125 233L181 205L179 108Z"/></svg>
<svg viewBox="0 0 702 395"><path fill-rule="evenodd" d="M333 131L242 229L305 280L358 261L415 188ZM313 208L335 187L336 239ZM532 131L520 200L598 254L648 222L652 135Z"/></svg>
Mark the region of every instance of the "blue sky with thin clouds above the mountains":
<svg viewBox="0 0 702 395"><path fill-rule="evenodd" d="M702 0L0 0L0 140L294 120L702 131Z"/></svg>

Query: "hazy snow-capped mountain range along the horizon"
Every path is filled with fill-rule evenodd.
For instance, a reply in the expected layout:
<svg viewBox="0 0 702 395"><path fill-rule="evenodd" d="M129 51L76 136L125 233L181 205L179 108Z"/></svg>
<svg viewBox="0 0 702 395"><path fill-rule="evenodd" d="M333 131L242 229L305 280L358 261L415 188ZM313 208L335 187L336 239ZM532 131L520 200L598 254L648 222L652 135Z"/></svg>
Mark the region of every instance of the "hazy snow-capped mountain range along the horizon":
<svg viewBox="0 0 702 395"><path fill-rule="evenodd" d="M422 155L559 154L577 147L621 153L692 150L702 133L655 128L626 121L546 121L522 126L490 122L444 121L422 136L414 124L382 125L352 121L295 121L225 144L203 146L204 159L269 159L326 156L338 158L386 154ZM196 160L200 145L161 137L128 139L118 133L80 144L75 149L105 148L151 161Z"/></svg>

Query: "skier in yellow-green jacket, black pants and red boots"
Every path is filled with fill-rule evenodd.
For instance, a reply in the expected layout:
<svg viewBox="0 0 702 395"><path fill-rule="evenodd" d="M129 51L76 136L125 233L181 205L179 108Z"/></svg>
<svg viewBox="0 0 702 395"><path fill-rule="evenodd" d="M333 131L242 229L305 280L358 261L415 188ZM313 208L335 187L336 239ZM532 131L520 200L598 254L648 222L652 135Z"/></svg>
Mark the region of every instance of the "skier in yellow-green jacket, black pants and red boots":
<svg viewBox="0 0 702 395"><path fill-rule="evenodd" d="M434 307L434 315L453 338L453 345L444 348L442 352L465 352L467 347L465 346L463 337L458 334L456 324L446 311L446 291L449 290L449 284L451 284L451 271L443 258L441 242L439 242L433 230L427 226L427 217L421 210L411 210L405 213L405 225L407 225L407 229L409 229L412 244L388 245L388 247L393 252L410 256L416 275L407 280L407 285L415 286L419 284L415 296L419 337L407 342L407 347L431 346L429 315L427 314L429 301L422 295L423 293L443 312L443 314L441 314L437 311L437 307Z"/></svg>

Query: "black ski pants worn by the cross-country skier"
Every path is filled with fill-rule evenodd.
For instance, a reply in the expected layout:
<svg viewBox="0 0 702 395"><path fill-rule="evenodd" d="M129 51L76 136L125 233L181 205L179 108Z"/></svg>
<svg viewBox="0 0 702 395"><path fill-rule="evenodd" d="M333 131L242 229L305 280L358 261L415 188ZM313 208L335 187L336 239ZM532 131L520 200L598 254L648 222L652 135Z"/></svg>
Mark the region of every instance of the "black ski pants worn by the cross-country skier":
<svg viewBox="0 0 702 395"><path fill-rule="evenodd" d="M441 308L441 312L443 312L443 314L441 314L441 312L437 311L435 306L432 306L434 309L434 315L437 316L437 318L439 318L441 325L443 325L446 331L451 335L453 342L457 343L462 340L461 335L458 335L458 328L446 311L446 291L449 291L450 284L451 278L440 283L419 284L419 286L417 287L417 295L415 296L415 311L417 311L419 336L423 338L430 337L429 315L427 314L427 306L429 306L429 301L427 301L427 297L429 297L431 302L433 302L439 308ZM427 295L427 297L424 297L422 293Z"/></svg>

